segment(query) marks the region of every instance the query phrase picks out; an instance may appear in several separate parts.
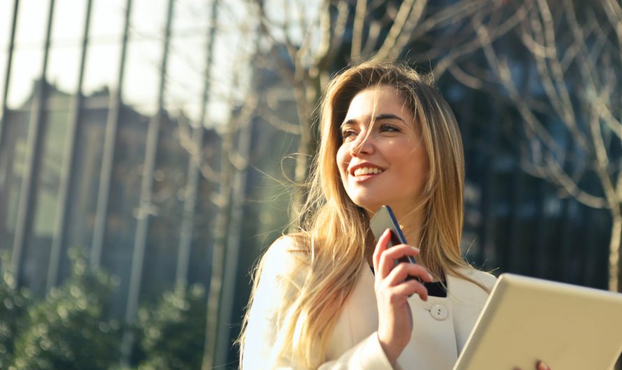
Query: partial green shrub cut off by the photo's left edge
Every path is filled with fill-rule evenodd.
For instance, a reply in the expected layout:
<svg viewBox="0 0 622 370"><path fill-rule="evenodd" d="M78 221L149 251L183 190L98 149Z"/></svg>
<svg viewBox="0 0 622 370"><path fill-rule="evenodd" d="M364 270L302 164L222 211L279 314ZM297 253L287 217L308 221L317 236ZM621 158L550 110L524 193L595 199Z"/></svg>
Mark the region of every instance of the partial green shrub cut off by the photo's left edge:
<svg viewBox="0 0 622 370"><path fill-rule="evenodd" d="M2 266L10 265L8 253L3 253L0 261ZM30 301L29 291L16 289L13 275L3 269L0 276L0 369L8 369L15 350L15 337L24 332L24 318Z"/></svg>

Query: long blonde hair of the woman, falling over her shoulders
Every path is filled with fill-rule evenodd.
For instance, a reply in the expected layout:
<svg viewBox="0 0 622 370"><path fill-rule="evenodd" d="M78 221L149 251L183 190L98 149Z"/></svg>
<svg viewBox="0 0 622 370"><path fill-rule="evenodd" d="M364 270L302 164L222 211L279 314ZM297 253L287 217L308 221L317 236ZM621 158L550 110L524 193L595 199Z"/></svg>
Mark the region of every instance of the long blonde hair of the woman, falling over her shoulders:
<svg viewBox="0 0 622 370"><path fill-rule="evenodd" d="M433 87L432 75L392 62L368 61L347 68L328 84L321 103L320 143L301 209L300 231L289 235L301 265L308 271L301 287L291 286L290 302L280 317L280 341L275 353L288 353L298 367L314 368L325 361L326 346L339 313L354 289L361 268L373 253L366 212L350 200L342 186L335 157L342 143L340 124L352 98L368 87L394 87L410 108L428 154L428 178L422 195L424 223L417 260L434 276L461 272L468 264L461 256L464 158L458 124L451 108ZM264 267L254 274L254 288ZM476 281L473 281L477 283ZM486 289L482 284L478 286ZM243 351L248 311L240 344ZM240 352L241 356L241 352ZM240 359L241 360L241 359ZM241 364L241 362L240 362Z"/></svg>

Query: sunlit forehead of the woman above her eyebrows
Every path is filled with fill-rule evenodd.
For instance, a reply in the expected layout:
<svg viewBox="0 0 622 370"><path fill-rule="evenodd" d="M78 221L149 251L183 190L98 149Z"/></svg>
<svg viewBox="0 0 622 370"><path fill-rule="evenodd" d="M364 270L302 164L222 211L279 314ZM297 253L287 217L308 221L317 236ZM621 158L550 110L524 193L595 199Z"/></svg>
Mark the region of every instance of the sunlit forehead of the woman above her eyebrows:
<svg viewBox="0 0 622 370"><path fill-rule="evenodd" d="M410 109L400 91L389 85L369 87L359 91L350 101L345 121L364 119L377 114L396 114L403 119L410 118Z"/></svg>

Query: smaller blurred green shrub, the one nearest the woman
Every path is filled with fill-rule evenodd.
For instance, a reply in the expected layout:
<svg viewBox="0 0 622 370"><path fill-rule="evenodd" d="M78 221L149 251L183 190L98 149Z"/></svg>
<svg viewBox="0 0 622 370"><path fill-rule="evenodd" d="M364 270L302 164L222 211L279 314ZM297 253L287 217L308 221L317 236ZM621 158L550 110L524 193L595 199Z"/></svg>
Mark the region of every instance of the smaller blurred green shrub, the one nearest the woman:
<svg viewBox="0 0 622 370"><path fill-rule="evenodd" d="M166 292L138 310L138 369L200 369L205 341L205 289Z"/></svg>

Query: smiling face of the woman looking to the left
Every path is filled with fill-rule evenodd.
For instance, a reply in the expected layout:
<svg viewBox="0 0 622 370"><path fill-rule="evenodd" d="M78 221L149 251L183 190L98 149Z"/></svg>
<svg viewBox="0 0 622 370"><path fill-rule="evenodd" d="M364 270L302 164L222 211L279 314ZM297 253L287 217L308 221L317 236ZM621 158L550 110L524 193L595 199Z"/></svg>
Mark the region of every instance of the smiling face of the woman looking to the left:
<svg viewBox="0 0 622 370"><path fill-rule="evenodd" d="M428 156L398 91L381 85L356 94L340 131L337 164L350 199L370 214L382 205L397 215L412 210L426 183Z"/></svg>

